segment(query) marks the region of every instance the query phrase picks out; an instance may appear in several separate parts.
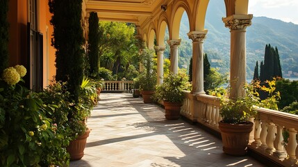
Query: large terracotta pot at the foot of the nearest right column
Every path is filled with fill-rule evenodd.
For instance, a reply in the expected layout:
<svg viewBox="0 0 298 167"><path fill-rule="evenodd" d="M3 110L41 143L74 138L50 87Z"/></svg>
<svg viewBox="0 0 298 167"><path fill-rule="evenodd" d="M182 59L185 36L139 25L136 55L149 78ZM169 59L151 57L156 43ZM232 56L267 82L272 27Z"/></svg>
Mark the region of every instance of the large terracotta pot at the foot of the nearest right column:
<svg viewBox="0 0 298 167"><path fill-rule="evenodd" d="M222 134L222 150L226 154L243 156L247 154L249 133L254 123L244 122L243 124L229 124L219 122L220 133Z"/></svg>

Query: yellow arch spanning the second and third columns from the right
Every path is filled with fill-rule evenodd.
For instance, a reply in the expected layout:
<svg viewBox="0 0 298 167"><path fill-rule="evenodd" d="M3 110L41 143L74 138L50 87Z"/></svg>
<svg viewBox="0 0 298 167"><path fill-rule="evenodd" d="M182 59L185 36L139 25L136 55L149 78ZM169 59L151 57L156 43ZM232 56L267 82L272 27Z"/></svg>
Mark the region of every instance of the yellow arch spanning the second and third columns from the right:
<svg viewBox="0 0 298 167"><path fill-rule="evenodd" d="M173 10L174 14L172 13L172 15L174 15L174 17L172 17L172 30L169 33L172 34L170 39L178 40L182 15L185 11L188 15L188 22L190 24L191 13L188 3L185 3L184 1L178 1L175 6L176 8Z"/></svg>

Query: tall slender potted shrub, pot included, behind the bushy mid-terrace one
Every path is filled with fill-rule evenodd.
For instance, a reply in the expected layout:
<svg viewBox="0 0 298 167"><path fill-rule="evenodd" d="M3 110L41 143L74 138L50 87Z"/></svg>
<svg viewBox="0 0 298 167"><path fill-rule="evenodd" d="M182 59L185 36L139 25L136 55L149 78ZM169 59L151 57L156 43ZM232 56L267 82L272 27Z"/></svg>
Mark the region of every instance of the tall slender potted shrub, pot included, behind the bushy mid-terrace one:
<svg viewBox="0 0 298 167"><path fill-rule="evenodd" d="M151 96L154 95L156 89L156 70L153 68L154 50L147 49L142 50L140 55L142 65L144 66L144 72L140 72L139 81L141 94L144 103L151 103Z"/></svg>

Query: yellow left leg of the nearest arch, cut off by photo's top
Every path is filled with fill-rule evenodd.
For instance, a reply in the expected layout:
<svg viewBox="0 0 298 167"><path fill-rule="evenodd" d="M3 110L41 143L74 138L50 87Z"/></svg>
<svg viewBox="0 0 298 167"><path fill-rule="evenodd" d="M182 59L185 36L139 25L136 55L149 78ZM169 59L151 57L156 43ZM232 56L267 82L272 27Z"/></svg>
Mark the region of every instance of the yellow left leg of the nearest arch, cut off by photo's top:
<svg viewBox="0 0 298 167"><path fill-rule="evenodd" d="M195 31L204 31L206 11L208 8L209 0L199 1L197 5L196 17L195 17Z"/></svg>

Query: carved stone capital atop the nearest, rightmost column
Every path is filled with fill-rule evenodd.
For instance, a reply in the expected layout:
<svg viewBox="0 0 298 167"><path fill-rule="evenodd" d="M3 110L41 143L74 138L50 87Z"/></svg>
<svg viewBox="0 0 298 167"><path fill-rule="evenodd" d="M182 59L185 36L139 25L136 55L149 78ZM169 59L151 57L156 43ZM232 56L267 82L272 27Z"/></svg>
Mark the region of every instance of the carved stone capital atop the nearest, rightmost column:
<svg viewBox="0 0 298 167"><path fill-rule="evenodd" d="M245 31L247 26L251 25L252 15L231 15L222 18L224 26L228 27L231 31L242 30Z"/></svg>

